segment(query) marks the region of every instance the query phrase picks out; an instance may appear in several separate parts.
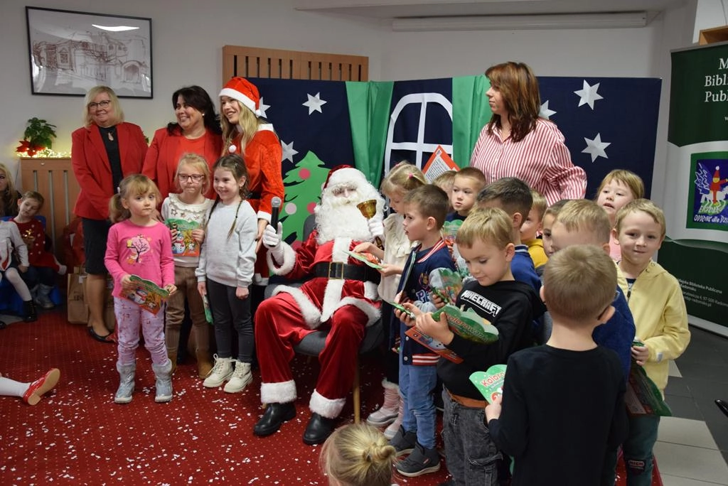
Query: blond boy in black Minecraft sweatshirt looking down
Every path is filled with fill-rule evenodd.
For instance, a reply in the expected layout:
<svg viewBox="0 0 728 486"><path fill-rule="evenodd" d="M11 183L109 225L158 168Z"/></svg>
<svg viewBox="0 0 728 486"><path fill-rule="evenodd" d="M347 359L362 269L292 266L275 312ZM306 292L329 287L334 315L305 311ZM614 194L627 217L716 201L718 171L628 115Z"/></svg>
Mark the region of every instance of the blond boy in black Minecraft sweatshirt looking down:
<svg viewBox="0 0 728 486"><path fill-rule="evenodd" d="M440 359L438 376L443 381L443 436L448 471L457 485L498 484L496 463L501 457L487 429L483 428L486 402L470 382L470 375L505 364L508 356L531 345L531 322L543 306L531 286L513 278L510 263L515 254L513 222L499 208L473 210L460 227L456 243L473 281L464 284L456 306L475 311L493 324L498 341L476 343L454 334L445 315L438 322L432 314L420 314L416 325L440 340L463 362Z"/></svg>

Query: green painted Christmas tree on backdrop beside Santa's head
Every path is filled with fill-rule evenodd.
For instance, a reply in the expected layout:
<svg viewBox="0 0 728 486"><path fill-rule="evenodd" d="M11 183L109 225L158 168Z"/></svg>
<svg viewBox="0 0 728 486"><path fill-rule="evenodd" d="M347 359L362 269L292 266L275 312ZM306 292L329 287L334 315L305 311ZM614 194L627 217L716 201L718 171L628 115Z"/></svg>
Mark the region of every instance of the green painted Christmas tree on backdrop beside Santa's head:
<svg viewBox="0 0 728 486"><path fill-rule="evenodd" d="M304 221L314 212L327 175L328 167L312 151L285 173L285 204L280 218L285 241L303 239Z"/></svg>

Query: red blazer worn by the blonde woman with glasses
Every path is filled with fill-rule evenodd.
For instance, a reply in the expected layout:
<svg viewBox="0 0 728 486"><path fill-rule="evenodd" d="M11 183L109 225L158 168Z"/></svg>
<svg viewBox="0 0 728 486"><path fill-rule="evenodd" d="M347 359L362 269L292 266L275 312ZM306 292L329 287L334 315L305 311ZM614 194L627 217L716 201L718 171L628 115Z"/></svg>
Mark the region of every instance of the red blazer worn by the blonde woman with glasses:
<svg viewBox="0 0 728 486"><path fill-rule="evenodd" d="M141 173L147 151L141 128L132 123L120 123L116 125L116 136L119 138L124 177ZM74 214L81 218L105 220L108 218L108 200L114 196L116 188L111 187L111 162L108 162L101 132L96 125L82 127L71 134L71 140L71 163L81 186Z"/></svg>

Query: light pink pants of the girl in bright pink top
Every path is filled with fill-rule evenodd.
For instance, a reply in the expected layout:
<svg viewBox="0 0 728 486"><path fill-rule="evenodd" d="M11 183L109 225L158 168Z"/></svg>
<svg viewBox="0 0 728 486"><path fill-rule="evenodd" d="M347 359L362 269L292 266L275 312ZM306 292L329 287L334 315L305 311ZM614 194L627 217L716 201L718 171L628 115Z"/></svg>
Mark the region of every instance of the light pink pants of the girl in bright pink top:
<svg viewBox="0 0 728 486"><path fill-rule="evenodd" d="M151 354L151 362L154 365L164 365L167 362L163 309L155 316L131 300L114 297L114 315L116 315L116 332L119 339L117 349L121 365L132 365L136 360L140 326L144 333L144 347Z"/></svg>

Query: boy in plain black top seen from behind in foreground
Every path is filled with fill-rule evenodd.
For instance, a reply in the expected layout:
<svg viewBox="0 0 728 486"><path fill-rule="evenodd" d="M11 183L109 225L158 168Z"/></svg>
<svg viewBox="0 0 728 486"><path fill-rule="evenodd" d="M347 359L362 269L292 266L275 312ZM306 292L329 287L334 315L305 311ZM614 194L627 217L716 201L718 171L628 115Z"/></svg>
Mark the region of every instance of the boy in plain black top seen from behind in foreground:
<svg viewBox="0 0 728 486"><path fill-rule="evenodd" d="M615 287L601 247L574 245L546 264L553 334L510 356L503 395L486 407L491 437L515 458L511 485L597 485L607 450L625 437L620 361L592 339L614 313Z"/></svg>

